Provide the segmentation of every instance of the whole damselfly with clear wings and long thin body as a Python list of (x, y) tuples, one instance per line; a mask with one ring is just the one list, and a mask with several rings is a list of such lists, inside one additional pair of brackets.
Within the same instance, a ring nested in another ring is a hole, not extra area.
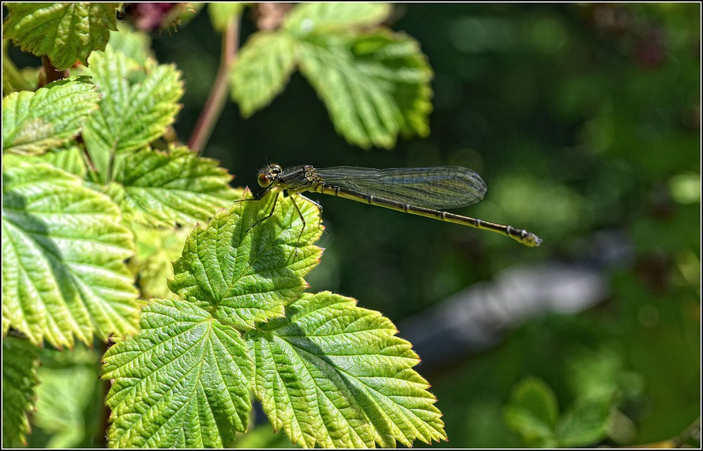
[[(269, 191), (277, 191), (276, 199), (280, 191), (297, 194), (313, 191), (476, 229), (496, 231), (525, 246), (539, 246), (542, 242), (535, 234), (524, 229), (443, 211), (445, 208), (472, 205), (484, 198), (486, 184), (479, 174), (465, 167), (372, 169), (336, 166), (316, 169), (306, 165), (283, 170), (279, 165), (269, 165), (259, 171), (257, 182), (265, 188), (257, 198), (262, 198)], [(275, 208), (276, 201), (273, 206)], [(269, 216), (256, 224), (271, 215), (273, 209)]]

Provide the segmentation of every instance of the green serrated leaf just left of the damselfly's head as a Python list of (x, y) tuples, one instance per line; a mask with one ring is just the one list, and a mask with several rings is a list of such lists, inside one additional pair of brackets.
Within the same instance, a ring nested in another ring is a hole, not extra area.
[[(145, 148), (124, 155), (115, 164), (110, 193), (127, 217), (148, 225), (207, 221), (241, 194), (231, 189), (232, 176), (216, 160), (199, 157), (185, 147), (168, 152)], [(123, 192), (122, 192), (123, 191)]]

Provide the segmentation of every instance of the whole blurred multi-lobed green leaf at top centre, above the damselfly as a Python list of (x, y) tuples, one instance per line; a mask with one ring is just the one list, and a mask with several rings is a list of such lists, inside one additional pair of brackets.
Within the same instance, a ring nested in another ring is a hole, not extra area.
[(354, 29), (378, 24), (388, 11), (384, 4), (302, 4), (282, 30), (254, 34), (230, 78), (243, 115), (269, 104), (298, 66), (352, 144), (391, 148), (398, 134), (427, 136), (432, 69), (418, 42)]

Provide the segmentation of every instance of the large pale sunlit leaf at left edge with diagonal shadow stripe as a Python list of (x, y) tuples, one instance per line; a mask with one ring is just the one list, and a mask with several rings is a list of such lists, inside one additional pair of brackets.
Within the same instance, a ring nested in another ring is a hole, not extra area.
[[(10, 163), (11, 162), (11, 163)], [(110, 198), (46, 164), (4, 161), (3, 329), (34, 344), (136, 331), (138, 302), (124, 259), (131, 234)]]

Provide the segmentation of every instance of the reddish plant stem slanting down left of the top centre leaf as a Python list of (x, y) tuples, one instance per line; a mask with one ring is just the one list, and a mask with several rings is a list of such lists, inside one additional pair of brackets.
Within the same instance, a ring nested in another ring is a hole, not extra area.
[(205, 147), (212, 133), (212, 129), (222, 113), (222, 108), (224, 107), (227, 96), (229, 68), (237, 57), (238, 48), (239, 16), (229, 23), (227, 29), (222, 34), (222, 57), (220, 67), (217, 71), (217, 78), (214, 84), (212, 84), (210, 95), (205, 103), (205, 108), (202, 109), (202, 113), (200, 113), (200, 117), (198, 118), (198, 123), (195, 125), (195, 129), (193, 129), (193, 134), (191, 134), (191, 140), (188, 141), (188, 147), (191, 148), (191, 151), (198, 153), (202, 151), (202, 148)]

